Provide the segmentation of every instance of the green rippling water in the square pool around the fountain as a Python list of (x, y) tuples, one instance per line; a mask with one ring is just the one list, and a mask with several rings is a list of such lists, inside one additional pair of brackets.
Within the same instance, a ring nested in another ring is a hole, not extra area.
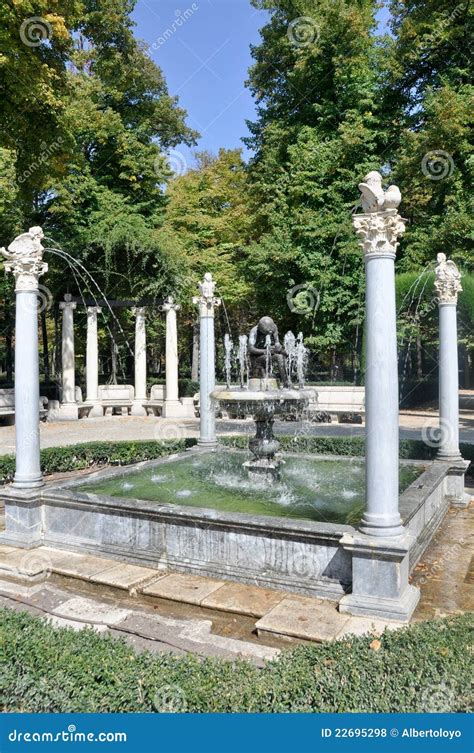
[[(79, 486), (97, 496), (357, 525), (364, 510), (365, 473), (360, 459), (285, 456), (279, 481), (250, 479), (245, 453), (220, 451), (170, 458), (155, 468)], [(423, 472), (400, 466), (400, 492)]]

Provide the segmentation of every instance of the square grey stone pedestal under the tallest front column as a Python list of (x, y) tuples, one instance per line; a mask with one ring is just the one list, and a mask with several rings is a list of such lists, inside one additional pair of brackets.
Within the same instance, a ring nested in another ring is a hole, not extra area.
[(407, 622), (420, 592), (409, 585), (408, 533), (392, 538), (344, 534), (343, 549), (352, 555), (352, 593), (343, 596), (339, 611)]

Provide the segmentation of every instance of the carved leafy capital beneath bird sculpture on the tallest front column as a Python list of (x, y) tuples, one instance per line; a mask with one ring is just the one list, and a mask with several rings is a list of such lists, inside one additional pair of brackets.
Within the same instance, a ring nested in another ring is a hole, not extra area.
[(405, 232), (405, 223), (395, 209), (355, 214), (352, 223), (366, 257), (395, 259), (397, 238)]

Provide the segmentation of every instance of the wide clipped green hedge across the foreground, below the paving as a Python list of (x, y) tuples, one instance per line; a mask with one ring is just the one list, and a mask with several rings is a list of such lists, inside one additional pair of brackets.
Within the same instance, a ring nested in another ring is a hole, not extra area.
[[(472, 616), (245, 661), (137, 653), (124, 640), (0, 610), (6, 712), (467, 711)], [(371, 648), (372, 644), (372, 648)], [(377, 650), (378, 649), (378, 650)]]

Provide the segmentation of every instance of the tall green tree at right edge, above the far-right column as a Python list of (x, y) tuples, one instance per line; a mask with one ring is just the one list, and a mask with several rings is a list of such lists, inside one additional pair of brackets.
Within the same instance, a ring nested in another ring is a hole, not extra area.
[(390, 10), (385, 130), (409, 219), (400, 268), (434, 264), (443, 251), (472, 269), (472, 5), (393, 0)]

